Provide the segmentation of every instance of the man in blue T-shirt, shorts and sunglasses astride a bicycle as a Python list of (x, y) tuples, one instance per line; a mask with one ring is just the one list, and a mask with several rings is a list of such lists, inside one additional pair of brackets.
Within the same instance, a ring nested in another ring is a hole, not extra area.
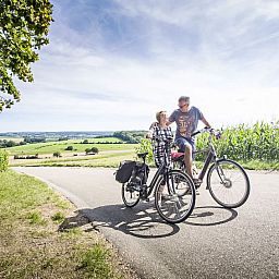
[[(168, 125), (177, 123), (175, 144), (180, 150), (185, 153), (184, 161), (187, 174), (193, 179), (193, 151), (195, 150), (195, 141), (191, 136), (195, 132), (201, 120), (206, 126), (210, 124), (205, 119), (199, 109), (190, 107), (190, 97), (181, 96), (179, 98), (179, 109), (174, 110), (169, 117)], [(198, 181), (194, 182), (198, 183)]]

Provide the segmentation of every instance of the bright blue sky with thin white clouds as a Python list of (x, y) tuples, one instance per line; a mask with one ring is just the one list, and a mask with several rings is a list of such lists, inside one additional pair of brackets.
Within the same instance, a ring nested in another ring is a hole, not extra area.
[(0, 132), (147, 129), (181, 95), (213, 126), (279, 120), (278, 0), (52, 0)]

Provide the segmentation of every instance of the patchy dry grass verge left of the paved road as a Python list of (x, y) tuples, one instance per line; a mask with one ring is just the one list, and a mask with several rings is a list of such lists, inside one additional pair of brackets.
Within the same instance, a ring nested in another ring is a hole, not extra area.
[(0, 278), (131, 278), (86, 218), (58, 230), (74, 210), (43, 182), (0, 172)]

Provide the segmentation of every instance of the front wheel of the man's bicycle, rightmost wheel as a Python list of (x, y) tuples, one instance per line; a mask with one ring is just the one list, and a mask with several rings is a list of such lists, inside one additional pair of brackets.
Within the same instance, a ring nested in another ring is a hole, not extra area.
[(221, 159), (207, 174), (207, 186), (213, 198), (226, 208), (242, 206), (250, 195), (250, 180), (245, 170), (235, 161)]

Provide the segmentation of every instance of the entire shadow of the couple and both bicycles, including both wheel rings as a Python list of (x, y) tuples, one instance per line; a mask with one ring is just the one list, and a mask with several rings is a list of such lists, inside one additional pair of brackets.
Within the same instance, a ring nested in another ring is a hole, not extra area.
[[(236, 216), (235, 210), (223, 207), (196, 207), (184, 223), (190, 226), (218, 226), (232, 221)], [(59, 230), (83, 227), (89, 222), (92, 227), (86, 231), (112, 228), (142, 239), (167, 238), (180, 231), (179, 226), (163, 222), (154, 206), (148, 203), (142, 203), (135, 208), (126, 208), (121, 204), (78, 209), (75, 216), (66, 218), (60, 225)]]

